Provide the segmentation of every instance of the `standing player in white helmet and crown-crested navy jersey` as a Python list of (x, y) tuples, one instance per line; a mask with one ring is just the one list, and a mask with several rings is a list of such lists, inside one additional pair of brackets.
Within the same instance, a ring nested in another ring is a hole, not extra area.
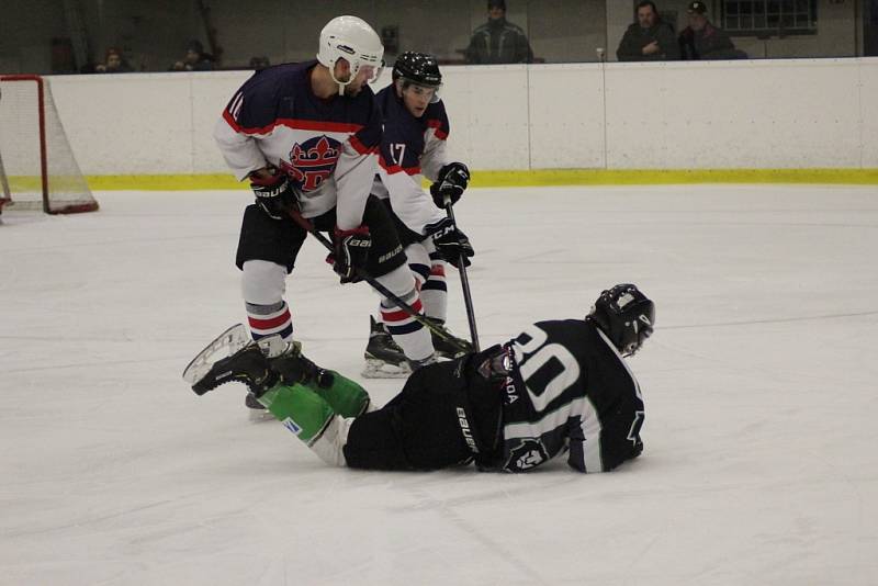
[[(384, 47), (364, 21), (333, 19), (320, 32), (317, 59), (257, 72), (233, 95), (214, 137), (256, 203), (244, 213), (236, 264), (254, 339), (291, 340), (285, 279), (307, 233), (301, 213), (333, 235), (331, 261), (341, 282), (364, 269), (384, 288), (420, 308), (393, 222), (370, 196), (378, 172), (381, 115), (369, 83), (378, 79)], [(381, 301), (394, 340), (408, 360), (432, 360), (429, 333), (393, 303)], [(248, 405), (260, 405), (251, 399)]]

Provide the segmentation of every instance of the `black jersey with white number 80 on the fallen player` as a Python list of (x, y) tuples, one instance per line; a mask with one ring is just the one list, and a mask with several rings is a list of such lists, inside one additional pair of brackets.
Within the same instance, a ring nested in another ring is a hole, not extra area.
[(569, 451), (574, 469), (605, 472), (640, 453), (640, 386), (594, 324), (540, 322), (508, 347), (516, 363), (503, 406), (503, 470), (522, 472)]

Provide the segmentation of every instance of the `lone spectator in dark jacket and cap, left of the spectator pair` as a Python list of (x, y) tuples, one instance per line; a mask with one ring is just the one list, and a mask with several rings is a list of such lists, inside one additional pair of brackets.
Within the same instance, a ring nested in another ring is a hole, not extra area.
[(487, 22), (475, 31), (466, 47), (466, 63), (496, 65), (505, 63), (532, 63), (525, 31), (506, 20), (506, 1), (488, 0)]

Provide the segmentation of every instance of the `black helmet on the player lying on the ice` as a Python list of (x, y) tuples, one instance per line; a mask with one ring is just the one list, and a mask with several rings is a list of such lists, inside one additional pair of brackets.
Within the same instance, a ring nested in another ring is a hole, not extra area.
[(652, 335), (655, 304), (630, 283), (600, 293), (586, 316), (623, 356), (631, 356)]

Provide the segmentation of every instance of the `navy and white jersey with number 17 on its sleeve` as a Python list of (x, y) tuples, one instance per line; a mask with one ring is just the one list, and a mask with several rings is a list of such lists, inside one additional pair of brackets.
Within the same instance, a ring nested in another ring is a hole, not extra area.
[(446, 139), (450, 132), (444, 104), (431, 103), (420, 117), (406, 109), (395, 84), (378, 92), (384, 123), (379, 176), (372, 192), (390, 198), (396, 216), (413, 232), (426, 234), (444, 214), (420, 187), (421, 178), (435, 181), (448, 164)]

